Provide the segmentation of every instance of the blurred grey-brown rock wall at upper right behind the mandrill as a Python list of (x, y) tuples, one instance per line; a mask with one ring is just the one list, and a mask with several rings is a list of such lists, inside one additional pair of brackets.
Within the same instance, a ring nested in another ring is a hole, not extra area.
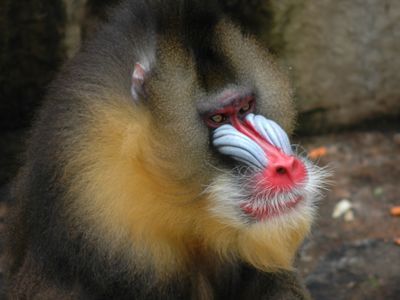
[[(308, 128), (400, 115), (400, 1), (271, 0), (266, 43), (291, 68)], [(272, 40), (271, 40), (272, 39)]]

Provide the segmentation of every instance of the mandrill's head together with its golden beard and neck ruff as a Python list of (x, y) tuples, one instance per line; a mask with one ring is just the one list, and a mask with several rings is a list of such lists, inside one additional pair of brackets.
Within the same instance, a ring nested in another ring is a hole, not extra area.
[(164, 271), (199, 257), (291, 268), (325, 175), (290, 144), (288, 80), (225, 19), (198, 36), (174, 26), (132, 54), (120, 97), (91, 108), (98, 146), (87, 156), (97, 167), (74, 181), (89, 199), (81, 217), (92, 216), (102, 238), (120, 237), (126, 253), (141, 245), (141, 259)]

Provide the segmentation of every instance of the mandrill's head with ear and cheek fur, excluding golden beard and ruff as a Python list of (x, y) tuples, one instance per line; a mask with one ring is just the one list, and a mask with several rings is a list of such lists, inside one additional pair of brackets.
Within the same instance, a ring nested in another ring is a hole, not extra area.
[(287, 78), (236, 27), (217, 28), (209, 57), (174, 40), (160, 43), (154, 66), (135, 64), (131, 91), (153, 117), (153, 158), (169, 179), (210, 194), (224, 222), (311, 220), (325, 176), (293, 152)]

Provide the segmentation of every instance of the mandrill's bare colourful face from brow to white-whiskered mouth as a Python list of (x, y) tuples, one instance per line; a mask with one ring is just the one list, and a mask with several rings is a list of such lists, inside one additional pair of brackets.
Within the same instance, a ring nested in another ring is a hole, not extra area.
[(213, 212), (237, 223), (311, 219), (321, 171), (294, 153), (279, 124), (257, 113), (254, 93), (231, 89), (217, 103), (204, 122), (213, 148), (233, 167), (210, 185)]

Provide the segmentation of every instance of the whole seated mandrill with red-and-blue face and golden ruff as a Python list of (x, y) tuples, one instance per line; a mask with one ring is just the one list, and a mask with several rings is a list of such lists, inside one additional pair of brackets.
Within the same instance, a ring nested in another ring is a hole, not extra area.
[(14, 181), (9, 299), (308, 299), (325, 173), (286, 77), (212, 1), (125, 1), (50, 86)]

